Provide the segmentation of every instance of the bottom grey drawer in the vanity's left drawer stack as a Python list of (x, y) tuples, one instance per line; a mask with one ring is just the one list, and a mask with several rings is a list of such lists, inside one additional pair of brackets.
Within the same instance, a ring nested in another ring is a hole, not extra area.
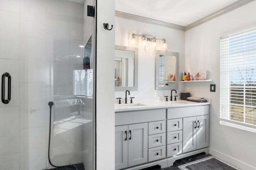
[(166, 157), (166, 146), (148, 149), (148, 162)]

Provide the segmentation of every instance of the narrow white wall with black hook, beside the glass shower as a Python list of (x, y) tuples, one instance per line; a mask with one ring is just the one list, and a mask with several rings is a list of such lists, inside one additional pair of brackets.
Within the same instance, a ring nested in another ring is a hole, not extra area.
[[(97, 0), (96, 169), (115, 169), (114, 37), (115, 1)], [(114, 25), (105, 30), (103, 23)]]

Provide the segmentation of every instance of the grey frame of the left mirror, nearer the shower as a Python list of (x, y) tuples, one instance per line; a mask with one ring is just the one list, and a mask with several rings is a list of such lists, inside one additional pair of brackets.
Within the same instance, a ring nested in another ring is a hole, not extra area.
[(134, 86), (115, 87), (115, 92), (126, 91), (126, 90), (137, 91), (138, 90), (138, 49), (134, 47), (116, 45), (115, 50), (134, 51)]

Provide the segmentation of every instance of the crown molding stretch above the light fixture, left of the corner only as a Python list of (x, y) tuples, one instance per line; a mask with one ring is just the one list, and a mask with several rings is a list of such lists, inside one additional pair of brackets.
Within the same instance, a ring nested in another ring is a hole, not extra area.
[(140, 21), (140, 22), (144, 22), (144, 23), (150, 23), (150, 24), (154, 24), (154, 25), (160, 25), (163, 27), (168, 27), (168, 28), (173, 28), (173, 29), (178, 29), (181, 31), (185, 31), (185, 27), (182, 25), (177, 25), (174, 23), (168, 23), (168, 22), (164, 22), (164, 21), (159, 21), (159, 20), (154, 20), (151, 18), (146, 18), (146, 17), (142, 17), (142, 16), (137, 16), (134, 14), (128, 14), (125, 12), (120, 12), (120, 11), (116, 11), (116, 17), (120, 17), (120, 18), (125, 18), (128, 20), (134, 20), (134, 21)]

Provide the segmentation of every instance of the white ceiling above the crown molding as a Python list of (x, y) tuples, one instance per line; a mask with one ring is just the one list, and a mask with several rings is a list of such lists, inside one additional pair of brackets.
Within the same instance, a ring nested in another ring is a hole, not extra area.
[(238, 0), (116, 0), (116, 11), (187, 26)]

